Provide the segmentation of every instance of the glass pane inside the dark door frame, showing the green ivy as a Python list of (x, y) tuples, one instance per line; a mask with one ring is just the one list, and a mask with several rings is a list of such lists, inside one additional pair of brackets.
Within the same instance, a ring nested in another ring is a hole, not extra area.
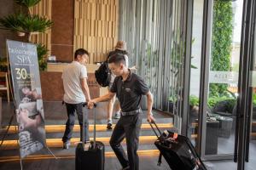
[(232, 154), (235, 144), (236, 97), (241, 13), (239, 1), (214, 1), (206, 155)]

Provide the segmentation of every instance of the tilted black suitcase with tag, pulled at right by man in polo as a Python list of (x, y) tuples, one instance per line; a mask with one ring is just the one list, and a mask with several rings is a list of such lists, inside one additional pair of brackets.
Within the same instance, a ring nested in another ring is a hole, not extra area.
[[(154, 130), (152, 123), (149, 124)], [(160, 133), (158, 136), (154, 130), (158, 138), (154, 144), (160, 150), (159, 166), (161, 156), (164, 156), (172, 170), (207, 170), (187, 137), (167, 130), (161, 133), (156, 123), (153, 124)]]

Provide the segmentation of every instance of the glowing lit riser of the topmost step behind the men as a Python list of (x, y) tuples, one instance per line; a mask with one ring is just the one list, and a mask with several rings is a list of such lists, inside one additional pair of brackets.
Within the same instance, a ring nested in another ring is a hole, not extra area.
[[(160, 128), (171, 128), (173, 127), (172, 123), (158, 123), (158, 127)], [(113, 127), (115, 124), (113, 124)], [(45, 130), (46, 133), (64, 133), (65, 131), (65, 125), (46, 125)], [(96, 131), (97, 132), (102, 132), (107, 130), (107, 125), (106, 124), (96, 124)], [(94, 125), (89, 125), (89, 131), (92, 132), (94, 129)], [(151, 129), (149, 124), (143, 124), (142, 125), (142, 130), (143, 129)], [(2, 130), (0, 130), (0, 134), (6, 132), (7, 127), (3, 127)], [(17, 126), (10, 126), (8, 133), (17, 133), (18, 132), (18, 127)], [(73, 127), (73, 132), (80, 132), (80, 126), (79, 125), (74, 125)]]

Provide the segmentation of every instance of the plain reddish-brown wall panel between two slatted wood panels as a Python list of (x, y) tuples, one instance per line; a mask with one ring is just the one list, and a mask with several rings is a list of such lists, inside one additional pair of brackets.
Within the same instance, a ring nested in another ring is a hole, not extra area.
[(73, 61), (74, 0), (52, 1), (51, 54), (61, 61)]

